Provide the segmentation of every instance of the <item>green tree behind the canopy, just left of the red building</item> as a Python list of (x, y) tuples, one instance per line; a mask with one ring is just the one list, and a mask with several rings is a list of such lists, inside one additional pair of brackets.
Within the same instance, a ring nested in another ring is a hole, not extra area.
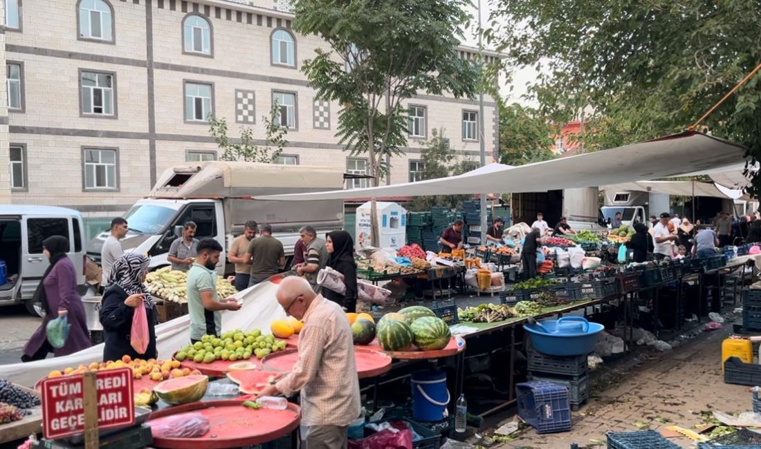
[(517, 103), (499, 108), (499, 162), (520, 166), (555, 158), (551, 147), (556, 128), (536, 109)]

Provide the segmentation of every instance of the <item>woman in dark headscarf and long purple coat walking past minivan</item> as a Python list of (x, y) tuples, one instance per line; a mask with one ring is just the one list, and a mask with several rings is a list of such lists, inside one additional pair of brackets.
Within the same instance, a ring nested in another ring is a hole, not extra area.
[[(22, 362), (45, 359), (48, 353), (53, 353), (56, 357), (68, 356), (91, 346), (84, 305), (77, 292), (77, 271), (72, 259), (66, 256), (68, 250), (68, 239), (63, 236), (51, 236), (43, 240), (43, 253), (50, 264), (32, 301), (42, 305), (45, 318), (24, 346)], [(47, 324), (64, 316), (69, 325), (68, 338), (62, 347), (53, 348), (47, 340)]]

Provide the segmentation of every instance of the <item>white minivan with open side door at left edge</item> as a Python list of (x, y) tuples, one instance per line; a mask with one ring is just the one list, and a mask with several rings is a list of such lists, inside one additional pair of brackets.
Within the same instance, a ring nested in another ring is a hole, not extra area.
[[(34, 291), (48, 267), (43, 240), (49, 236), (68, 239), (68, 257), (77, 269), (79, 294), (87, 292), (84, 281), (84, 226), (77, 210), (64, 207), (0, 204), (0, 305), (21, 304), (32, 315)], [(5, 265), (3, 276), (2, 265)]]

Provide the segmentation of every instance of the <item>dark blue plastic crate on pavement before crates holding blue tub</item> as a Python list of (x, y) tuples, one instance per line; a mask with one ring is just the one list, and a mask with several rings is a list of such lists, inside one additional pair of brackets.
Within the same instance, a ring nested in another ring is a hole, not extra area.
[(571, 430), (571, 404), (568, 390), (549, 382), (524, 382), (515, 385), (518, 416), (537, 433)]

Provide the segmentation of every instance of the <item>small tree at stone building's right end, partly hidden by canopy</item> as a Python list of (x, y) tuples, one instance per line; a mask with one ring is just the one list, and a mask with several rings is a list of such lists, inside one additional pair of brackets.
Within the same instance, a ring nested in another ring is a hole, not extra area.
[[(420, 159), (423, 162), (422, 179), (446, 178), (447, 176), (462, 175), (478, 168), (473, 160), (457, 160), (457, 154), (450, 147), (449, 139), (444, 137), (444, 128), (432, 129), (431, 138), (425, 141)], [(409, 210), (429, 210), (433, 206), (460, 207), (467, 195), (438, 195), (414, 197), (409, 202)]]

